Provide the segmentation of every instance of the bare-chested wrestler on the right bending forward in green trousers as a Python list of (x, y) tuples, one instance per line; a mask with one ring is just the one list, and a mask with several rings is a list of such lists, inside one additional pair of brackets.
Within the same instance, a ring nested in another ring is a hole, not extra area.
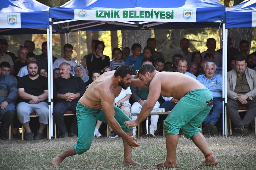
[(137, 120), (125, 122), (127, 128), (142, 122), (150, 114), (160, 95), (179, 100), (163, 124), (167, 158), (164, 163), (156, 164), (157, 169), (177, 166), (176, 149), (180, 128), (186, 138), (192, 139), (204, 154), (205, 161), (200, 166), (217, 165), (217, 159), (212, 155), (198, 128), (213, 106), (211, 92), (188, 75), (178, 72), (158, 72), (150, 64), (141, 66), (138, 77), (139, 79), (131, 80), (131, 85), (148, 87), (150, 91)]

